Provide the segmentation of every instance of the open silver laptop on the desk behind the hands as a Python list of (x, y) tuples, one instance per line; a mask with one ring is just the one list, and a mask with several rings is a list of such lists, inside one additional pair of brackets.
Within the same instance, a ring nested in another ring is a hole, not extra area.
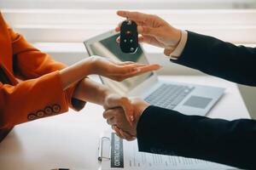
[[(116, 42), (119, 32), (108, 31), (84, 41), (88, 54), (99, 55), (114, 61), (134, 61), (148, 64), (143, 47), (139, 45), (135, 54), (125, 54)], [(224, 88), (202, 86), (190, 83), (160, 81), (154, 71), (137, 77), (115, 82), (100, 77), (102, 83), (118, 94), (140, 97), (151, 105), (179, 111), (185, 115), (205, 116), (224, 94)]]

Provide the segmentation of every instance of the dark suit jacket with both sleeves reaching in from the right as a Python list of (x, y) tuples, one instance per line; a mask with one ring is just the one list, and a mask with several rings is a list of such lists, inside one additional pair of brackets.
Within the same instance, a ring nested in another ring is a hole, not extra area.
[[(232, 82), (256, 85), (256, 48), (189, 32), (183, 54), (174, 62)], [(137, 124), (137, 140), (140, 151), (256, 169), (254, 120), (185, 116), (149, 106)]]

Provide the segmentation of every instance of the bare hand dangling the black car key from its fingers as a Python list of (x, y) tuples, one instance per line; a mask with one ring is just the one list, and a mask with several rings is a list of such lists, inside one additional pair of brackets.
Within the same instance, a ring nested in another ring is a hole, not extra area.
[[(132, 20), (137, 23), (138, 42), (145, 42), (150, 45), (165, 48), (165, 54), (170, 56), (181, 39), (181, 30), (169, 25), (166, 20), (153, 14), (139, 12), (117, 11), (120, 17)], [(121, 31), (121, 24), (115, 28)], [(120, 37), (117, 38), (120, 42)]]

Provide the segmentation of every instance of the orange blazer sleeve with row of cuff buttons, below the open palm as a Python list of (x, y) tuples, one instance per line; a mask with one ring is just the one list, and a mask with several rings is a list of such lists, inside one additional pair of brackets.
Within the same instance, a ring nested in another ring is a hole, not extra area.
[(0, 82), (0, 129), (68, 111), (59, 71), (15, 86)]

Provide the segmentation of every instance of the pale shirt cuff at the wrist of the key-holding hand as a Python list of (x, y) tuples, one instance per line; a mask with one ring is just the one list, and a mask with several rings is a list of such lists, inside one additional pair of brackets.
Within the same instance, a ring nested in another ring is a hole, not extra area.
[(180, 39), (180, 42), (178, 42), (177, 44), (177, 48), (175, 48), (174, 51), (172, 51), (172, 53), (170, 54), (170, 56), (167, 56), (167, 57), (169, 57), (170, 59), (177, 59), (177, 57), (179, 57), (183, 53), (183, 49), (185, 48), (187, 40), (188, 40), (188, 32), (182, 30), (181, 39)]

